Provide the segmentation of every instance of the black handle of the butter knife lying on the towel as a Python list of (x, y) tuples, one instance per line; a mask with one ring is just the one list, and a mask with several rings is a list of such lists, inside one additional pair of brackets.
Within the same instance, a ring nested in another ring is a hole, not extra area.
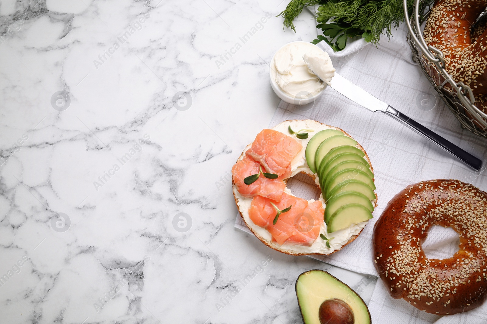
[(409, 118), (408, 116), (404, 115), (403, 113), (397, 111), (393, 107), (387, 107), (385, 111), (386, 114), (393, 117), (394, 119), (399, 120), (403, 124), (406, 124), (409, 128), (416, 131), (417, 133), (425, 136), (433, 143), (437, 144), (439, 147), (445, 149), (446, 151), (450, 152), (451, 154), (455, 155), (458, 159), (462, 160), (466, 163), (469, 167), (480, 170), (482, 167), (482, 160), (473, 156), (472, 154), (468, 153), (467, 151), (461, 149), (460, 147), (456, 146), (449, 140), (439, 136), (435, 132), (429, 130), (428, 128), (424, 127), (417, 121)]

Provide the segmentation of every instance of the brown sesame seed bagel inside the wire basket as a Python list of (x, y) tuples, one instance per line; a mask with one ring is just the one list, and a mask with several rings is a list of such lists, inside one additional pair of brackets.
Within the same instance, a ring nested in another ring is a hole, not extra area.
[[(426, 43), (443, 52), (448, 73), (470, 86), (477, 102), (487, 94), (487, 32), (481, 27), (471, 34), (470, 27), (486, 7), (487, 0), (437, 0), (424, 30)], [(437, 73), (430, 73), (439, 84)]]

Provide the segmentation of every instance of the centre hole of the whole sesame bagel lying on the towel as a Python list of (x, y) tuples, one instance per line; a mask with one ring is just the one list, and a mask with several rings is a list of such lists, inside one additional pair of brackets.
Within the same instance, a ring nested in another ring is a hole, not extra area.
[(460, 236), (451, 227), (433, 225), (421, 248), (429, 259), (448, 259), (458, 252)]

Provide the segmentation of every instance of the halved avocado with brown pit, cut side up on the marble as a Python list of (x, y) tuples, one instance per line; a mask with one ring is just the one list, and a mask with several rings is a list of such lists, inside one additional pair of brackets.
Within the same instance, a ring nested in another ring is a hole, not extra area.
[[(372, 319), (369, 308), (365, 305), (360, 296), (352, 290), (349, 286), (335, 278), (330, 273), (322, 270), (310, 270), (301, 273), (296, 280), (296, 295), (298, 296), (298, 304), (300, 306), (301, 316), (304, 324), (324, 324), (327, 320), (320, 321), (325, 305), (325, 301), (344, 302), (348, 305), (347, 312), (351, 311), (353, 314), (352, 322), (349, 320), (339, 320), (340, 316), (334, 316), (333, 323), (354, 323), (354, 324), (370, 324)], [(343, 303), (341, 303), (343, 304)], [(343, 309), (343, 307), (339, 307)], [(333, 310), (332, 310), (333, 311)]]

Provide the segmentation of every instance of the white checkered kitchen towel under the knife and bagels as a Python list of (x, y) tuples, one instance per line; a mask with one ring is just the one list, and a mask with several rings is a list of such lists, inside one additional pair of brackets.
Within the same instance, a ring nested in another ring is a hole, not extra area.
[[(324, 42), (318, 46), (330, 54), (337, 72), (342, 76), (482, 158), (485, 164), (486, 140), (460, 128), (458, 120), (412, 61), (405, 28), (401, 27), (393, 34), (389, 42), (387, 37), (383, 37), (378, 48), (361, 40), (350, 43), (346, 55), (343, 52), (334, 53)], [(378, 195), (374, 219), (370, 220), (354, 242), (339, 253), (315, 258), (357, 273), (377, 275), (372, 261), (372, 230), (384, 207), (398, 191), (410, 184), (437, 178), (458, 179), (487, 190), (487, 172), (470, 170), (449, 153), (381, 112), (372, 113), (332, 88), (328, 87), (324, 91), (314, 104), (295, 106), (281, 102), (270, 127), (286, 119), (315, 119), (342, 128), (365, 148), (374, 167)], [(293, 187), (293, 191), (299, 195), (300, 189), (296, 188), (294, 190)], [(235, 226), (249, 232), (240, 216)], [(458, 249), (458, 245), (455, 246), (458, 238), (453, 235), (446, 243), (441, 230), (431, 231), (427, 243), (433, 252), (438, 248), (437, 256), (443, 258), (452, 256)], [(467, 313), (439, 317), (420, 312), (402, 299), (394, 300), (380, 279), (375, 286), (369, 309), (375, 324), (487, 322), (487, 304)]]

